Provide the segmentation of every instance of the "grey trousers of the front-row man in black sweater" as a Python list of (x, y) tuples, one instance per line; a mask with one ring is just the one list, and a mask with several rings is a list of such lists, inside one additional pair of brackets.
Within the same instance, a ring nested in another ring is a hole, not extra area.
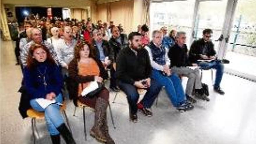
[(185, 76), (188, 77), (189, 80), (187, 82), (186, 86), (186, 94), (192, 95), (193, 89), (201, 89), (202, 88), (202, 82), (201, 82), (201, 76), (200, 71), (198, 68), (192, 70), (188, 67), (172, 67), (172, 72), (178, 74), (179, 76)]

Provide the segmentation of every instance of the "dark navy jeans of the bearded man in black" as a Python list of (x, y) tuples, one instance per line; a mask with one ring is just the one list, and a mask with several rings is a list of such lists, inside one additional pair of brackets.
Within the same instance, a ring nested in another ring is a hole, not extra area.
[[(137, 91), (138, 88), (136, 88), (134, 85), (123, 83), (122, 81), (118, 81), (118, 85), (120, 89), (127, 95), (130, 113), (136, 114), (138, 111), (137, 102), (140, 96)], [(162, 86), (157, 85), (156, 81), (151, 79), (150, 87), (147, 89), (147, 92), (140, 103), (143, 104), (145, 108), (150, 108), (154, 100), (157, 98), (161, 88)]]

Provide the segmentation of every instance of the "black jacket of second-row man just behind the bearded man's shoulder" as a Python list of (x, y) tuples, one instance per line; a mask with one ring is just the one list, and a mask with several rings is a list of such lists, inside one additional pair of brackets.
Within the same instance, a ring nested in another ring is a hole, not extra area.
[(119, 42), (117, 42), (117, 40), (115, 38), (110, 38), (109, 40), (109, 46), (110, 46), (110, 54), (109, 54), (109, 57), (111, 60), (113, 60), (113, 62), (116, 61), (116, 58), (117, 58), (117, 55), (119, 53), (119, 51), (122, 49), (122, 48), (125, 48), (128, 46), (128, 39), (127, 39), (127, 35), (121, 33), (120, 34), (120, 37), (121, 37), (121, 43), (120, 44)]

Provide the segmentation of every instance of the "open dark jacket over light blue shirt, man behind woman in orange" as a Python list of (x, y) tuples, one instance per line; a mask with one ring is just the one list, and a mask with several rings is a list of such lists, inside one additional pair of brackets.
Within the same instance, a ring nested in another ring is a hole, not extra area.
[[(95, 40), (93, 40), (93, 54), (95, 55), (96, 58), (100, 58), (99, 56), (99, 49), (97, 48), (96, 42)], [(110, 53), (110, 47), (109, 47), (109, 43), (106, 40), (102, 40), (102, 48), (103, 48), (103, 52), (105, 56), (109, 56)], [(110, 59), (110, 58), (109, 58)], [(113, 59), (110, 59), (111, 61), (113, 61)]]

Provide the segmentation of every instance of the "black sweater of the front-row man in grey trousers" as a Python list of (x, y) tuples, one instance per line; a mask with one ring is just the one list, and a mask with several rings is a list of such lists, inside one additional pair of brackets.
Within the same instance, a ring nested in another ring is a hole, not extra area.
[(191, 66), (191, 63), (189, 62), (188, 48), (186, 44), (184, 44), (182, 47), (179, 47), (179, 45), (175, 43), (175, 45), (169, 49), (168, 57), (171, 61), (171, 67)]

